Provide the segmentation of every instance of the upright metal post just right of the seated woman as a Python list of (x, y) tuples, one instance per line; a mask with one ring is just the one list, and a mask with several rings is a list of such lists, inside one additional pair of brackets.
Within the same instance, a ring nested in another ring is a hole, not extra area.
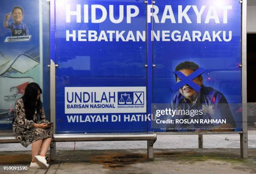
[[(51, 122), (54, 122), (53, 131), (56, 129), (56, 73), (55, 73), (55, 0), (50, 0), (50, 108), (51, 108)], [(56, 159), (55, 142), (50, 145), (50, 159)]]

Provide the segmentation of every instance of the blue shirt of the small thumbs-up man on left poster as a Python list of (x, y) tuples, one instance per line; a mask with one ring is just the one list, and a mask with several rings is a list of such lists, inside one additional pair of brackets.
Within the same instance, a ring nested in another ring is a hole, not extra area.
[(28, 28), (24, 23), (8, 23), (7, 28), (10, 28), (12, 36), (27, 36), (29, 35)]

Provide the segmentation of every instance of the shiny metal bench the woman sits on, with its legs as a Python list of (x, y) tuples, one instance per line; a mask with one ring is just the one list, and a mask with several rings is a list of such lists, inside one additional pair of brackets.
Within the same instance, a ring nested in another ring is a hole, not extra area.
[[(148, 159), (153, 159), (153, 145), (156, 133), (105, 133), (105, 134), (54, 134), (50, 149), (51, 160), (55, 159), (54, 142), (72, 141), (147, 141)], [(1, 135), (0, 143), (19, 143), (12, 135)]]

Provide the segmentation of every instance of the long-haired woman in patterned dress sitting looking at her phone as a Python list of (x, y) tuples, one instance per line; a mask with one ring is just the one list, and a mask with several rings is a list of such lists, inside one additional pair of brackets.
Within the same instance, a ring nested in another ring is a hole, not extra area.
[[(32, 143), (32, 160), (30, 168), (48, 169), (46, 152), (53, 137), (51, 123), (46, 120), (37, 83), (30, 83), (23, 97), (17, 100), (13, 118), (14, 137), (27, 147)], [(40, 155), (38, 155), (39, 150)]]

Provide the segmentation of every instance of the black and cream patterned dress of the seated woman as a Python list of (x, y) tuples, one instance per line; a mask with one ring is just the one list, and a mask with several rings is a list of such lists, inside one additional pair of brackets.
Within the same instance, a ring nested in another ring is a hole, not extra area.
[(13, 136), (25, 147), (34, 141), (53, 137), (52, 127), (41, 129), (33, 126), (34, 123), (49, 123), (43, 108), (41, 108), (40, 113), (34, 114), (34, 120), (27, 120), (23, 100), (18, 99), (15, 104), (13, 119)]

